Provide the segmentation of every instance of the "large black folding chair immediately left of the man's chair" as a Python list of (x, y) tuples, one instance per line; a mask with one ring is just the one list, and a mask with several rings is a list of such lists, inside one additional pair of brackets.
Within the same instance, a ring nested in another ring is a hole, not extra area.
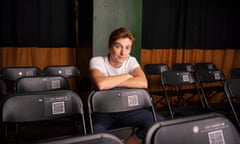
[(2, 143), (86, 134), (82, 100), (71, 90), (5, 97), (1, 103), (1, 126)]

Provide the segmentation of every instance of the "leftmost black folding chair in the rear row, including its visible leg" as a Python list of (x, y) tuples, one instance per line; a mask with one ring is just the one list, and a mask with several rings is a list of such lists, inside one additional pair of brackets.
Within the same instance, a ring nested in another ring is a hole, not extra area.
[(18, 78), (41, 75), (41, 69), (36, 66), (5, 67), (1, 70), (1, 79), (6, 83), (7, 94), (12, 94), (14, 92), (14, 83)]

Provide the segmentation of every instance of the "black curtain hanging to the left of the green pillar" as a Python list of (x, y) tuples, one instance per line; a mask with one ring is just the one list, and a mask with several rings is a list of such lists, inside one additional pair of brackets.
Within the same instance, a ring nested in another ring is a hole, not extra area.
[(0, 47), (75, 47), (74, 0), (1, 0)]

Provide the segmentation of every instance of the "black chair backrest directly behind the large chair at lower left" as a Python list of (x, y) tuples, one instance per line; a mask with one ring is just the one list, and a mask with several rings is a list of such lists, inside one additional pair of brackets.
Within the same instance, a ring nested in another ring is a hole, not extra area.
[(63, 76), (22, 77), (15, 81), (14, 92), (40, 92), (49, 90), (70, 89), (68, 80)]

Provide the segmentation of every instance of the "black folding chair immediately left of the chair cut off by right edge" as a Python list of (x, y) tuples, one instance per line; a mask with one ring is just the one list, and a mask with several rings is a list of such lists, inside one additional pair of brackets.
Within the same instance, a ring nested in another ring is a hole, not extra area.
[[(197, 81), (200, 85), (201, 93), (208, 102), (209, 107), (220, 108), (221, 102), (226, 102), (224, 95), (224, 73), (218, 69), (199, 69), (196, 72)], [(211, 100), (212, 99), (212, 100)]]

